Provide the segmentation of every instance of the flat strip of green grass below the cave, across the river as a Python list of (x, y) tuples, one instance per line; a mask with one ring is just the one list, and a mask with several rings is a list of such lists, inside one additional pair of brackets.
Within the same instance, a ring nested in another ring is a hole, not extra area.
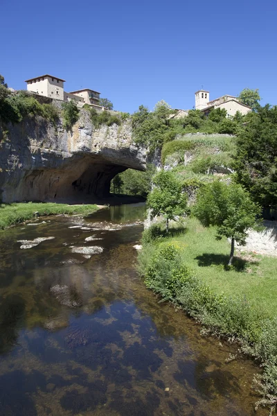
[(97, 205), (67, 205), (54, 202), (19, 202), (0, 205), (0, 229), (10, 227), (25, 220), (39, 216), (57, 214), (91, 214), (97, 211)]

